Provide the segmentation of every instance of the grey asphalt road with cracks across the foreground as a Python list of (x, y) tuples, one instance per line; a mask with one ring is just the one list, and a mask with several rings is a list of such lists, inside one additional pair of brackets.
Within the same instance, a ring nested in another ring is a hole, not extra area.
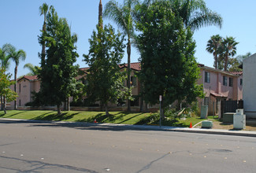
[(0, 120), (0, 172), (255, 172), (256, 138)]

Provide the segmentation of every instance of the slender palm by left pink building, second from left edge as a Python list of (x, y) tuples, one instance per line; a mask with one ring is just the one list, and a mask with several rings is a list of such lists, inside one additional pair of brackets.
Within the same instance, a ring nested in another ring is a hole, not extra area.
[[(14, 68), (14, 91), (17, 91), (17, 72), (18, 72), (18, 66), (20, 64), (20, 61), (24, 61), (26, 59), (26, 53), (24, 50), (16, 50), (16, 48), (11, 45), (6, 45), (6, 52), (8, 54), (8, 57), (12, 59), (15, 62), (15, 68)], [(14, 109), (17, 109), (17, 101), (14, 101)]]

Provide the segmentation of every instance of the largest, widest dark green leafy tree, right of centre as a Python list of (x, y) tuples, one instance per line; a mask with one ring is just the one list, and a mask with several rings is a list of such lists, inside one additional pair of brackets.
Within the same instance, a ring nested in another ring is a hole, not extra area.
[(190, 103), (202, 96), (202, 87), (196, 84), (199, 69), (192, 32), (169, 6), (168, 1), (157, 1), (140, 9), (137, 25), (144, 99), (154, 105), (162, 95), (162, 109), (176, 100)]

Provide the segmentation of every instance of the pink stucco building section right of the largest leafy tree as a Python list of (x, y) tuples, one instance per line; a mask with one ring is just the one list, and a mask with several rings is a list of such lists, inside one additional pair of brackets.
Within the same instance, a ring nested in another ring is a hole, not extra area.
[(198, 67), (198, 84), (202, 84), (205, 93), (205, 98), (198, 99), (198, 105), (208, 105), (210, 115), (221, 116), (221, 100), (243, 99), (243, 72), (224, 72), (203, 64)]

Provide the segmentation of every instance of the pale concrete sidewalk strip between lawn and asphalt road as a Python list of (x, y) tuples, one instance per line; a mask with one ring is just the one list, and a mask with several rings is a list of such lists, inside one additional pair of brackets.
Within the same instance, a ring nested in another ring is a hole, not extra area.
[[(21, 120), (21, 119), (0, 119), (11, 123), (53, 123), (63, 124), (66, 126), (82, 126), (82, 127), (111, 127), (112, 129), (124, 130), (147, 130), (147, 131), (177, 131), (187, 133), (200, 134), (222, 134), (222, 135), (236, 135), (256, 137), (256, 131), (236, 131), (236, 130), (221, 130), (221, 129), (204, 129), (204, 128), (187, 128), (187, 127), (167, 127), (167, 126), (148, 126), (148, 125), (129, 125), (129, 124), (113, 124), (113, 123), (83, 123), (83, 122), (65, 122), (65, 121), (43, 121), (43, 120)], [(0, 122), (1, 123), (1, 122)]]

